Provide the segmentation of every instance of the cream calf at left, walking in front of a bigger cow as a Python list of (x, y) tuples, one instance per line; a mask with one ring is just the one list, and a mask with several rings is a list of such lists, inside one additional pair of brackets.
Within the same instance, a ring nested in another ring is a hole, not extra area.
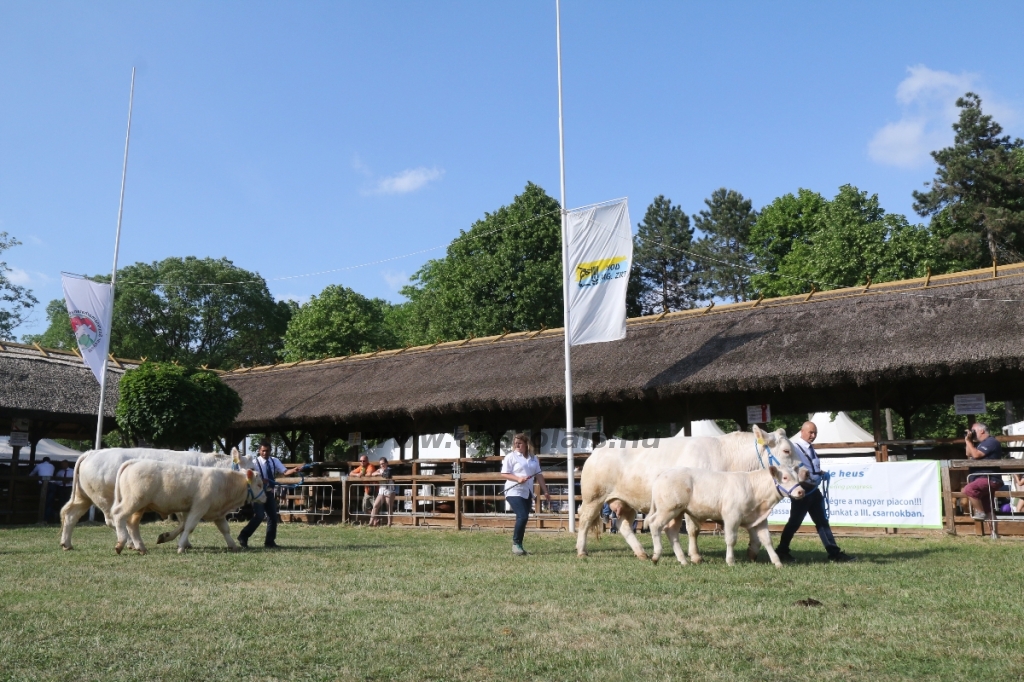
[[(114, 485), (114, 525), (118, 531), (118, 554), (129, 537), (140, 554), (145, 545), (138, 524), (147, 511), (168, 516), (182, 514), (178, 554), (185, 551), (188, 535), (200, 521), (213, 521), (224, 536), (227, 549), (238, 552), (227, 525), (227, 514), (247, 501), (258, 501), (264, 495), (263, 479), (251, 469), (233, 471), (212, 467), (196, 467), (159, 460), (130, 460), (118, 468)], [(164, 542), (167, 534), (161, 536)]]

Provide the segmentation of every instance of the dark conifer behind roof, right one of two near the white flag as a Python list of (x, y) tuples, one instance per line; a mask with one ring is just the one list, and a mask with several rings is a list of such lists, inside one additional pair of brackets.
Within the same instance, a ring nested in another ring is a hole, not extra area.
[(693, 226), (702, 233), (693, 247), (700, 280), (714, 298), (745, 301), (754, 267), (748, 243), (758, 212), (751, 200), (725, 187), (713, 191), (705, 204), (708, 208), (693, 216)]

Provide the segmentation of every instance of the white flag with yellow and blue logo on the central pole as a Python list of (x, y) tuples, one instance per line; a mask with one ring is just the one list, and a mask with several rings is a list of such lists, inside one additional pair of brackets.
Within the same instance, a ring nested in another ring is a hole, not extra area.
[(633, 231), (626, 200), (569, 211), (569, 343), (626, 337), (626, 288), (633, 263)]

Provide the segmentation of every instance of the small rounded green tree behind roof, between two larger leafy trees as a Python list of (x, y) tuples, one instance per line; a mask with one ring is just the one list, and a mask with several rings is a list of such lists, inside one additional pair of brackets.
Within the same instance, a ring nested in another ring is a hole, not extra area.
[(285, 359), (337, 357), (391, 348), (397, 340), (385, 324), (390, 304), (347, 287), (331, 285), (299, 306), (285, 333)]

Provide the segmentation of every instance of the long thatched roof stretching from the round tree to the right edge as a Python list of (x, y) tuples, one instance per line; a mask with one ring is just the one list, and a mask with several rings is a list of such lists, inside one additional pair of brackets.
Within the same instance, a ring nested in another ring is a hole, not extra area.
[[(987, 301), (1014, 299), (1020, 303)], [(909, 408), (953, 392), (1020, 397), (1024, 264), (633, 318), (572, 349), (581, 422), (644, 423)], [(237, 370), (243, 430), (368, 433), (557, 425), (561, 330)], [(1011, 395), (1013, 393), (1013, 395)]]

